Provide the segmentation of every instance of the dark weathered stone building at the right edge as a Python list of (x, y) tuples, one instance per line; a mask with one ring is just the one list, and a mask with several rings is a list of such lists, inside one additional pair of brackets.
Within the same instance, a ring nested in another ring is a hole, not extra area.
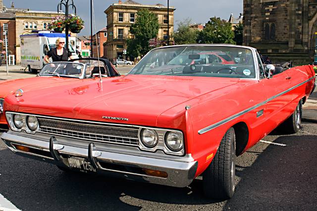
[(244, 0), (243, 43), (273, 62), (311, 63), (317, 0)]

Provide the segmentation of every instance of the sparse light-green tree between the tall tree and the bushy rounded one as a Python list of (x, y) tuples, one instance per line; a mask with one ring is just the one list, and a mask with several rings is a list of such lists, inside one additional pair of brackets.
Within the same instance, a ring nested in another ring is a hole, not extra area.
[(197, 43), (198, 31), (190, 28), (191, 19), (187, 18), (178, 23), (177, 32), (172, 34), (172, 38), (176, 44)]

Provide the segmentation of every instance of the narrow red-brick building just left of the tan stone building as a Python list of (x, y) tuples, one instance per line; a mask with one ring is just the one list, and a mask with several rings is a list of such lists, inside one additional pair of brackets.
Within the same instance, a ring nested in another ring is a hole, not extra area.
[[(107, 42), (107, 28), (104, 28), (97, 32), (95, 35), (93, 35), (93, 57), (97, 58), (98, 53), (99, 57), (104, 57), (105, 50), (104, 47), (106, 47)], [(98, 49), (98, 51), (97, 51)]]

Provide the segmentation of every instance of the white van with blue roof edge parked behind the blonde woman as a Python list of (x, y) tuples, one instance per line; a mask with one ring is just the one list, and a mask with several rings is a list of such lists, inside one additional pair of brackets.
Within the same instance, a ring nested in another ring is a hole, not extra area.
[[(37, 73), (45, 64), (44, 57), (49, 50), (55, 47), (57, 38), (64, 38), (63, 33), (39, 32), (36, 34), (20, 35), (21, 40), (21, 66), (28, 68), (30, 72)], [(73, 43), (73, 44), (72, 44)], [(76, 38), (68, 37), (68, 48), (75, 58), (76, 54)], [(52, 59), (50, 58), (50, 61)]]

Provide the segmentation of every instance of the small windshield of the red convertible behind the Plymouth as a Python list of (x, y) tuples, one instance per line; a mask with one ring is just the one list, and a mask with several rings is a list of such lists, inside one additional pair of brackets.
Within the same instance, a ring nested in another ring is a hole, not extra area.
[(40, 76), (59, 76), (79, 78), (84, 71), (84, 65), (70, 62), (54, 62), (45, 65)]

